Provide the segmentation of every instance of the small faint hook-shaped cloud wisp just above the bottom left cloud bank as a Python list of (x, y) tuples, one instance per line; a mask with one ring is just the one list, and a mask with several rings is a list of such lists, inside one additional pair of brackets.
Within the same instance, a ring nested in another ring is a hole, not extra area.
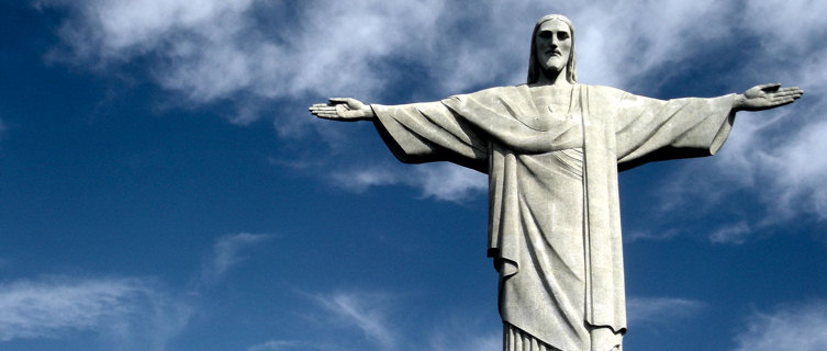
[(238, 251), (245, 247), (272, 238), (267, 234), (239, 233), (221, 237), (213, 246), (213, 252), (201, 273), (201, 283), (214, 284), (243, 258)]

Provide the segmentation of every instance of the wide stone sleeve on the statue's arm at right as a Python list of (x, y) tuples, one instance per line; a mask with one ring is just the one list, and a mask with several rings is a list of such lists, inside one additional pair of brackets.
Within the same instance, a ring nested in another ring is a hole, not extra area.
[(615, 117), (618, 170), (715, 155), (735, 121), (735, 94), (657, 100), (624, 93)]

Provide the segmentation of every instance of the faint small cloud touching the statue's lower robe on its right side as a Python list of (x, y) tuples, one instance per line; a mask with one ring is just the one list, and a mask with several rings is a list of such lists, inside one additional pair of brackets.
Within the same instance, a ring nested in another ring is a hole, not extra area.
[(626, 299), (629, 325), (662, 325), (694, 316), (703, 302), (675, 297), (630, 297)]

